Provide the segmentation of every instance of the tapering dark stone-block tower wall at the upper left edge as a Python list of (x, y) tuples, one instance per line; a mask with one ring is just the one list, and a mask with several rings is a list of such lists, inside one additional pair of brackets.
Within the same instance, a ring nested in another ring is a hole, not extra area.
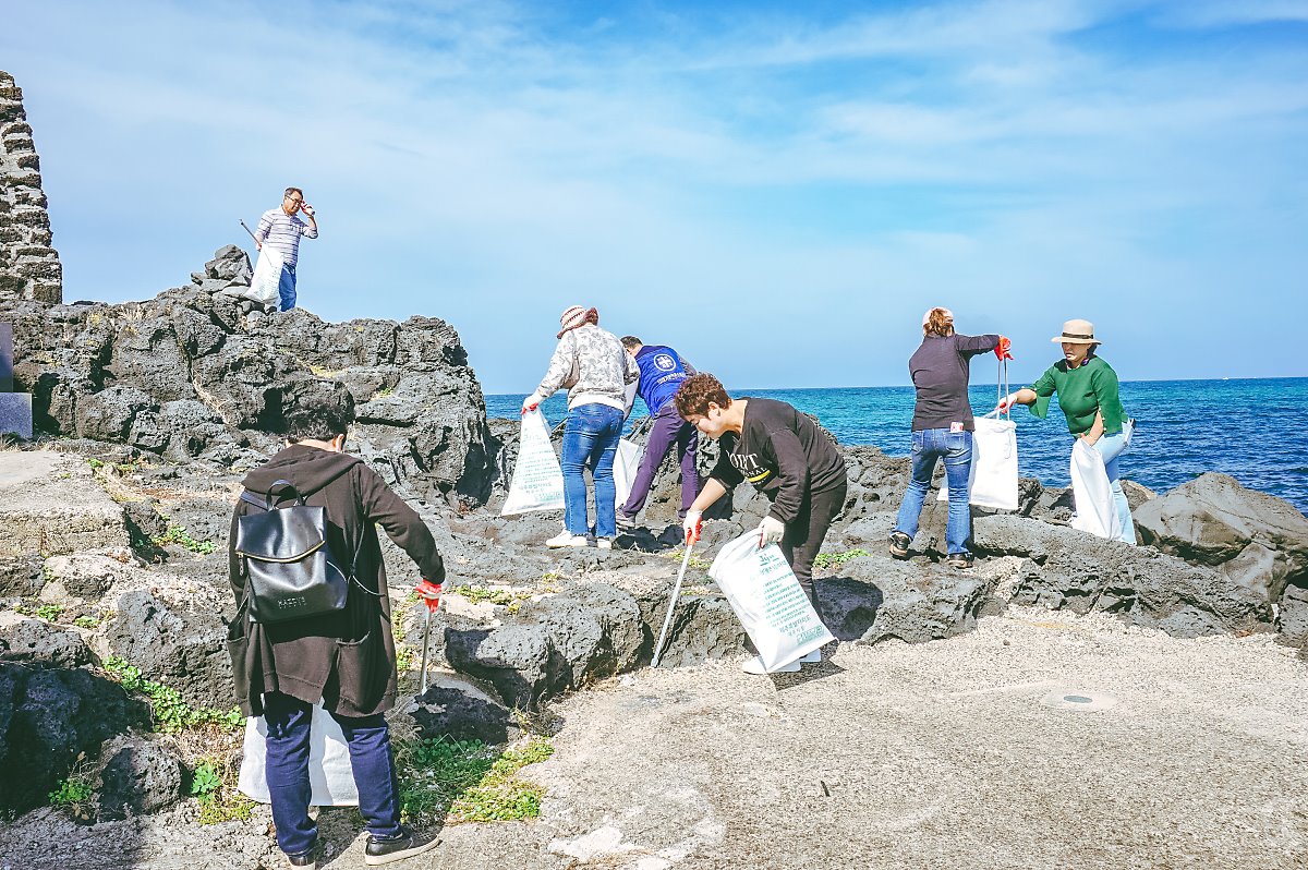
[(63, 301), (39, 170), (22, 90), (0, 71), (0, 298)]

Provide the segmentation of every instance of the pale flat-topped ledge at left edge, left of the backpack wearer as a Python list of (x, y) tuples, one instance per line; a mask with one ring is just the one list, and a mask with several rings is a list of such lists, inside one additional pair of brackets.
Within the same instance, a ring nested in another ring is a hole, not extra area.
[(123, 509), (76, 457), (0, 453), (0, 557), (126, 547)]

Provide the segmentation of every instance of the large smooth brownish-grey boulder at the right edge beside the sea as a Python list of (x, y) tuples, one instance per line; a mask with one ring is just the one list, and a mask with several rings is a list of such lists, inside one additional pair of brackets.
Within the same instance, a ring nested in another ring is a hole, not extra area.
[(1288, 501), (1209, 472), (1141, 506), (1135, 527), (1142, 543), (1211, 565), (1277, 604), (1286, 642), (1308, 641), (1308, 612), (1299, 612), (1308, 595), (1308, 518)]

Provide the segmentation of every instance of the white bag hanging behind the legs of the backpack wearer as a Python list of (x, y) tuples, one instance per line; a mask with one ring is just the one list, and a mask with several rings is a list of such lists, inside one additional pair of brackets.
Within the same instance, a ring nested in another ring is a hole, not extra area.
[[(262, 716), (246, 720), (245, 757), (237, 788), (242, 794), (269, 803), (268, 798), (268, 723)], [(340, 725), (331, 717), (322, 701), (314, 705), (314, 718), (309, 727), (309, 785), (310, 806), (358, 806), (358, 788), (349, 765), (349, 744)]]

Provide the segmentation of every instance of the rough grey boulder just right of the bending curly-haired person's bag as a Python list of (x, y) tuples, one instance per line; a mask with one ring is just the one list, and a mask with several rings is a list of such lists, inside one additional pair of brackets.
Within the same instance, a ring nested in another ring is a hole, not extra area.
[(990, 583), (943, 564), (861, 556), (818, 581), (818, 608), (838, 640), (923, 644), (976, 628)]

